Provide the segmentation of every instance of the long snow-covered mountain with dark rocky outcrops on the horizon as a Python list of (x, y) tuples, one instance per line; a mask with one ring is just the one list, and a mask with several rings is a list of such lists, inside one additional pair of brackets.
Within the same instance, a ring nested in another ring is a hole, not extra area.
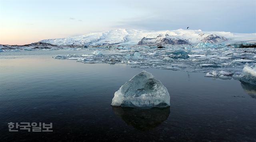
[(52, 45), (143, 45), (143, 44), (196, 44), (256, 41), (256, 33), (230, 33), (223, 31), (115, 29), (89, 33), (77, 37), (45, 39), (40, 42)]

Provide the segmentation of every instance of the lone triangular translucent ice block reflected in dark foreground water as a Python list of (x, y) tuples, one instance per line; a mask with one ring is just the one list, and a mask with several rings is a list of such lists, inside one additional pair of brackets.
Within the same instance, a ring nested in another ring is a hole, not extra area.
[(112, 106), (124, 107), (167, 107), (170, 95), (164, 85), (143, 70), (115, 92)]

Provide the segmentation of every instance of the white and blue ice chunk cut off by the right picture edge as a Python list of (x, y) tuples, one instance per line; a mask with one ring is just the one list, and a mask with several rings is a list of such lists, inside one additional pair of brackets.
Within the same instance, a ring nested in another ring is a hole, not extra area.
[(241, 75), (240, 81), (256, 85), (256, 64), (246, 65)]

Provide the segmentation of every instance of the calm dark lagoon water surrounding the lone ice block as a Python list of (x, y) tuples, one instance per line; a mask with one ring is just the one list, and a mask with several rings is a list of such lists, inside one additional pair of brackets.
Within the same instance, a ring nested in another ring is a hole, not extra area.
[[(0, 54), (0, 141), (256, 141), (252, 86), (146, 69), (168, 89), (170, 108), (111, 107), (114, 92), (142, 69), (51, 58), (84, 53)], [(53, 132), (8, 132), (9, 122), (53, 123)]]

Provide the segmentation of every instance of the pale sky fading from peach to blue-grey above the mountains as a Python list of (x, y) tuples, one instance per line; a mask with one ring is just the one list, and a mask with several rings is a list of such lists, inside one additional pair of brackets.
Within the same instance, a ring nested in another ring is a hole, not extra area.
[(256, 33), (256, 0), (0, 0), (0, 44), (110, 29)]

